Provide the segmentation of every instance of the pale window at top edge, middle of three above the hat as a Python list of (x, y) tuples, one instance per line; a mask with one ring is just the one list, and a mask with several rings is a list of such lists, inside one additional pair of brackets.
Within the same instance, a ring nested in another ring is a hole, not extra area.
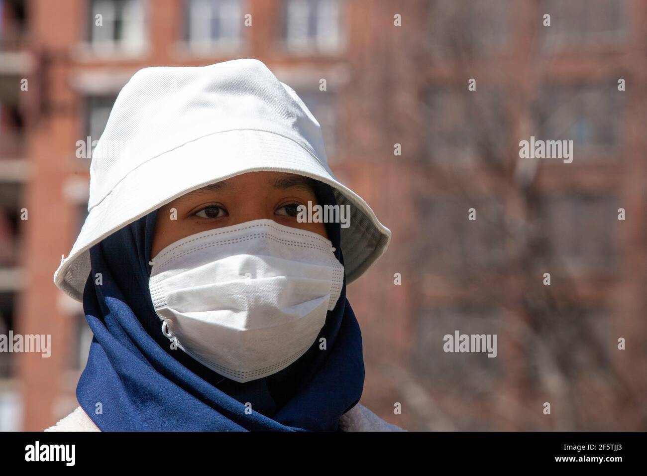
[(193, 51), (237, 49), (243, 32), (241, 0), (188, 0), (184, 40)]

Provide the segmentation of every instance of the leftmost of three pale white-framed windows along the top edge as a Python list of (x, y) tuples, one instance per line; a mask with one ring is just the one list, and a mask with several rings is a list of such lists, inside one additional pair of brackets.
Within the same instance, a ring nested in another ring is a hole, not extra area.
[(144, 49), (142, 0), (91, 0), (89, 43), (95, 52), (138, 53)]

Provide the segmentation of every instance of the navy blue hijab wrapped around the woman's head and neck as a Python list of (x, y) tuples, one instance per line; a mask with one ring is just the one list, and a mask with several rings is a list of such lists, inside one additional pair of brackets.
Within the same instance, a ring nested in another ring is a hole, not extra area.
[[(316, 195), (320, 205), (336, 203), (325, 184), (318, 183)], [(90, 249), (83, 310), (94, 337), (76, 387), (83, 410), (102, 431), (340, 431), (340, 416), (364, 387), (362, 335), (345, 277), (335, 308), (302, 357), (265, 378), (230, 380), (172, 350), (162, 335), (148, 289), (157, 212)], [(340, 223), (325, 225), (344, 264)]]

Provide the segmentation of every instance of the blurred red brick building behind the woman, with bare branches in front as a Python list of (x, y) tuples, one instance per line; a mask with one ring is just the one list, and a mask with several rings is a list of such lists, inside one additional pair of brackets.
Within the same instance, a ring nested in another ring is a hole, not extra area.
[[(141, 67), (245, 57), (294, 87), (333, 172), (393, 231), (348, 291), (364, 405), (406, 429), (644, 429), (647, 2), (0, 0), (0, 12), (0, 333), (51, 334), (53, 348), (0, 354), (0, 430), (43, 429), (78, 405), (91, 333), (52, 282), (87, 213), (77, 141), (100, 137)], [(574, 163), (520, 160), (531, 135), (573, 139)], [(483, 219), (468, 223), (470, 207)], [(498, 332), (498, 358), (444, 354), (455, 329)], [(631, 337), (623, 354), (617, 336)]]

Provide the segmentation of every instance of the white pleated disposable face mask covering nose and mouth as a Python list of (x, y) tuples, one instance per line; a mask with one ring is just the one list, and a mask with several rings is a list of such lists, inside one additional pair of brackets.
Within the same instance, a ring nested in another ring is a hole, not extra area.
[(343, 284), (330, 240), (254, 220), (168, 245), (153, 258), (149, 289), (166, 337), (247, 382), (305, 354)]

